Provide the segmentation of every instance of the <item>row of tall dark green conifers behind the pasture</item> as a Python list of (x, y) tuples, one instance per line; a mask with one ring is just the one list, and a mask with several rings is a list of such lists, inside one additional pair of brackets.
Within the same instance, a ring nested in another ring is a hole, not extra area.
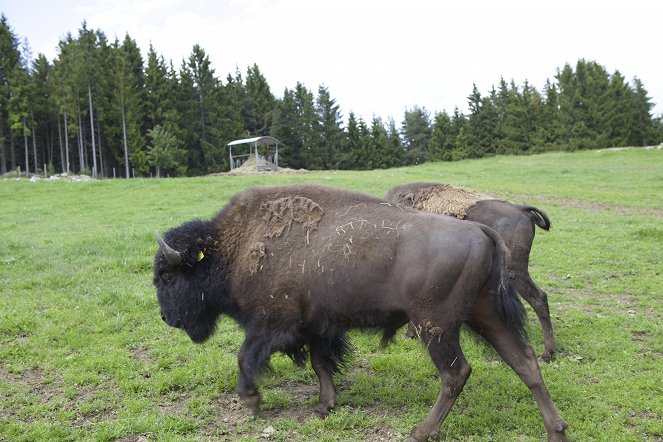
[[(219, 78), (194, 45), (176, 68), (127, 34), (109, 41), (82, 23), (49, 61), (32, 57), (0, 16), (0, 172), (93, 177), (184, 176), (228, 170), (227, 143), (271, 135), (280, 165), (374, 169), (494, 154), (645, 146), (661, 117), (638, 78), (595, 61), (557, 69), (540, 93), (500, 79), (469, 112), (414, 106), (390, 118), (344, 119), (329, 89), (297, 82), (276, 97), (257, 65)], [(44, 170), (44, 168), (46, 170)]]

